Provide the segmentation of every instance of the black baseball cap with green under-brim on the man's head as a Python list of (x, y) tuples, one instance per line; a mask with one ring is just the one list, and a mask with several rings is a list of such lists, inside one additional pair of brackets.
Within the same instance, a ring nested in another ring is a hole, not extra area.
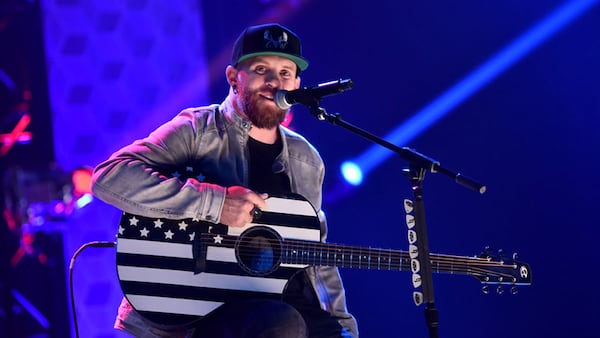
[(277, 55), (296, 63), (300, 70), (308, 67), (308, 61), (302, 57), (300, 38), (290, 29), (276, 23), (250, 26), (237, 38), (233, 45), (231, 64), (259, 55)]

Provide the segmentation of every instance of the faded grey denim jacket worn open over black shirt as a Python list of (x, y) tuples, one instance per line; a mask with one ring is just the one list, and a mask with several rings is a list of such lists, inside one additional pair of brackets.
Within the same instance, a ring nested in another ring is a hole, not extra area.
[[(225, 187), (248, 186), (246, 142), (250, 127), (250, 121), (235, 111), (229, 97), (220, 106), (183, 110), (147, 138), (122, 148), (98, 165), (93, 175), (93, 192), (101, 200), (132, 214), (218, 223)], [(325, 240), (326, 221), (321, 211), (323, 161), (304, 137), (284, 127), (279, 130), (283, 150), (273, 168), (285, 172), (292, 191), (306, 197), (319, 210), (322, 240)], [(175, 173), (182, 168), (197, 168), (200, 172), (196, 179), (184, 181)], [(346, 310), (337, 268), (310, 267), (307, 275), (321, 307), (338, 318), (353, 337), (358, 337), (356, 321)], [(142, 335), (141, 327), (128, 326), (127, 321), (133, 326), (134, 322), (151, 324), (128, 309), (126, 317), (135, 318), (121, 318), (121, 328)], [(152, 329), (155, 333), (160, 331), (159, 327)]]

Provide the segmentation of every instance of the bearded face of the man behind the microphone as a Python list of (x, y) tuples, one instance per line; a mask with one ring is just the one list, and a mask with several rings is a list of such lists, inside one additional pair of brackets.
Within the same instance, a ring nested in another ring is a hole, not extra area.
[(242, 61), (237, 66), (237, 106), (257, 128), (277, 127), (287, 110), (273, 101), (280, 89), (294, 90), (300, 86), (297, 66), (289, 59), (265, 55)]

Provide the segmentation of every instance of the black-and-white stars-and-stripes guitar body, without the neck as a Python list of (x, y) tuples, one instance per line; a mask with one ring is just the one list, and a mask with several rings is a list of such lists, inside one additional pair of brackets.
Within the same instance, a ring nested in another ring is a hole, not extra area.
[(129, 303), (154, 322), (188, 325), (226, 302), (280, 298), (288, 280), (308, 266), (301, 256), (282, 262), (282, 243), (318, 242), (320, 221), (300, 196), (266, 202), (244, 228), (124, 213), (117, 272)]

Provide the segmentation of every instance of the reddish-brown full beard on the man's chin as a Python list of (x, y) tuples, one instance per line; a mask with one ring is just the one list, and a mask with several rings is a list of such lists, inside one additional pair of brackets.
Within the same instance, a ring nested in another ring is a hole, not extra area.
[(285, 119), (287, 110), (267, 104), (256, 92), (244, 93), (244, 112), (252, 125), (257, 128), (272, 129)]

